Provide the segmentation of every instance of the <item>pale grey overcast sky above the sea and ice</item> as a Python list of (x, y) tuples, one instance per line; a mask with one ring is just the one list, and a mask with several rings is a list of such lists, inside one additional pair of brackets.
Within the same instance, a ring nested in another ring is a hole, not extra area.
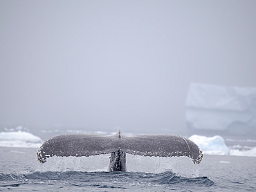
[(191, 82), (256, 86), (256, 1), (0, 1), (0, 125), (174, 133)]

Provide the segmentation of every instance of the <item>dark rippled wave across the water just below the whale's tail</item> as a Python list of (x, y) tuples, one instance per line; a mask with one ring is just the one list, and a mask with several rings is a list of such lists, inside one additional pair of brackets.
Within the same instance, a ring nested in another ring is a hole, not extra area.
[[(111, 181), (109, 180), (111, 177)], [(22, 184), (51, 184), (64, 182), (70, 186), (96, 186), (97, 188), (120, 187), (122, 189), (131, 189), (132, 186), (158, 186), (158, 185), (192, 185), (195, 186), (212, 186), (214, 182), (208, 177), (182, 177), (167, 171), (164, 173), (141, 173), (141, 172), (80, 172), (80, 171), (65, 171), (65, 172), (39, 172), (25, 174), (3, 174), (0, 173), (0, 186), (19, 186)]]

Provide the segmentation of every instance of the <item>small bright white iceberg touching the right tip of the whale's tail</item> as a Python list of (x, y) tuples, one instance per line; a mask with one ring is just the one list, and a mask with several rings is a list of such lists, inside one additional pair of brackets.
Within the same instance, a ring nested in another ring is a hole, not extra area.
[(219, 135), (214, 137), (205, 137), (201, 135), (192, 135), (190, 138), (192, 142), (197, 144), (203, 154), (208, 155), (229, 155), (230, 149), (226, 146), (223, 138)]

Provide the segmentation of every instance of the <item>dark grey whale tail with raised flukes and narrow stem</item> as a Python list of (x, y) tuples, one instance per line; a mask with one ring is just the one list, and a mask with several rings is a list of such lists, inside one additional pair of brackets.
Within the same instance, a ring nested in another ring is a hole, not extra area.
[(126, 171), (126, 153), (155, 157), (192, 158), (199, 164), (203, 153), (191, 140), (178, 135), (87, 135), (67, 134), (53, 137), (42, 144), (37, 152), (39, 162), (58, 156), (90, 156), (111, 153), (109, 171)]

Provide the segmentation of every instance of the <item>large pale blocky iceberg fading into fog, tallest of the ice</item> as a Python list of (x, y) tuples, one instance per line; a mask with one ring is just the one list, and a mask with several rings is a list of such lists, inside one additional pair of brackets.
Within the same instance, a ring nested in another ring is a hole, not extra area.
[(231, 133), (256, 128), (256, 88), (191, 84), (185, 107), (188, 128)]

